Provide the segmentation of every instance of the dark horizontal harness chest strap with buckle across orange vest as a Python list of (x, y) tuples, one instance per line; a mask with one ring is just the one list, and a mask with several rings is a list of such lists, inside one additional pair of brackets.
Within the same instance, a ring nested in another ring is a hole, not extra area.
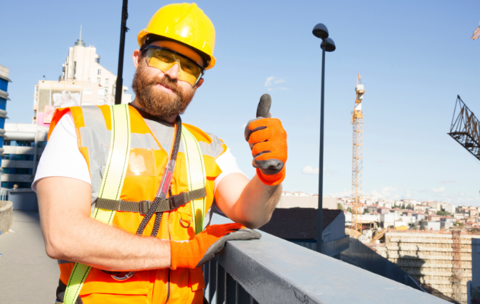
[[(159, 201), (159, 205), (155, 209), (155, 213), (175, 210), (178, 207), (183, 206), (189, 201), (201, 199), (207, 195), (206, 188), (196, 189), (193, 191), (182, 192), (178, 195), (169, 196), (166, 199)], [(140, 214), (146, 214), (149, 211), (153, 201), (122, 201), (114, 199), (98, 198), (97, 208), (113, 210), (113, 211), (127, 211), (127, 212), (139, 212)]]

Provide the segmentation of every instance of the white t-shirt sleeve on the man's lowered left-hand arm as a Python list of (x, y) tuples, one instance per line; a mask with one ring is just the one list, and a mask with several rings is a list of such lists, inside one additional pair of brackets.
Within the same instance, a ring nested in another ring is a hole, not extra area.
[(46, 177), (69, 177), (92, 184), (87, 162), (77, 144), (77, 132), (70, 113), (63, 115), (53, 129), (48, 144), (38, 162), (32, 189)]

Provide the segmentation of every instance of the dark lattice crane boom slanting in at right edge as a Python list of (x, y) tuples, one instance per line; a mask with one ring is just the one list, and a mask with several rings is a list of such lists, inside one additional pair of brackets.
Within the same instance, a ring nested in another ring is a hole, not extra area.
[(480, 122), (459, 95), (448, 135), (480, 160)]

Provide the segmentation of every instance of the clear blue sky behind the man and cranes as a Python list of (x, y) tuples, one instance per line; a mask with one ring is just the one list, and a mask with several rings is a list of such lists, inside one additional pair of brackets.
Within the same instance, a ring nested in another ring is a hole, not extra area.
[[(124, 84), (132, 83), (137, 33), (169, 2), (130, 1)], [(8, 122), (31, 122), (33, 87), (58, 79), (68, 47), (82, 38), (117, 73), (122, 1), (6, 1), (0, 64), (10, 68)], [(249, 177), (243, 128), (263, 93), (288, 133), (284, 189), (318, 192), (321, 50), (326, 58), (324, 194), (351, 194), (356, 75), (366, 93), (363, 193), (479, 206), (480, 162), (447, 135), (459, 94), (480, 113), (479, 1), (198, 1), (216, 29), (208, 70), (183, 121), (222, 138)]]

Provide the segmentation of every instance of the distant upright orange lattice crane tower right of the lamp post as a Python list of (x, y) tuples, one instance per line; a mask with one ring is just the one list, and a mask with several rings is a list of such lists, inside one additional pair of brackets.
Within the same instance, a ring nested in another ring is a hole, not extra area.
[(365, 89), (361, 84), (361, 75), (357, 75), (355, 87), (356, 99), (353, 107), (351, 123), (353, 125), (353, 153), (352, 153), (352, 229), (350, 236), (358, 239), (362, 235), (362, 150), (363, 150), (363, 114), (362, 100)]

